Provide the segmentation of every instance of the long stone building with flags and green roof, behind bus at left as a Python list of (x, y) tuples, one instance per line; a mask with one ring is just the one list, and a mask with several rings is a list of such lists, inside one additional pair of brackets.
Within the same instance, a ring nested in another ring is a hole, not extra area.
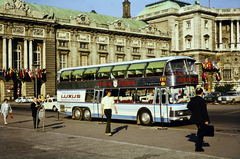
[(0, 100), (17, 98), (17, 92), (26, 97), (35, 91), (55, 95), (62, 68), (170, 55), (168, 33), (143, 21), (21, 0), (0, 0), (0, 5), (2, 72), (46, 69), (46, 80), (36, 78), (37, 87), (35, 78), (7, 80), (0, 72)]

